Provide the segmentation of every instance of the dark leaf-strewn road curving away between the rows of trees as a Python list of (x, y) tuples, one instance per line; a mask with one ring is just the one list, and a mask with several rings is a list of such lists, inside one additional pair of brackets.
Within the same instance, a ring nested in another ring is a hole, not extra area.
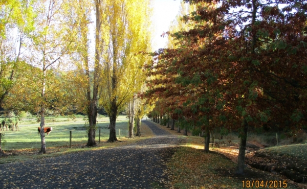
[(104, 150), (0, 165), (0, 188), (165, 188), (181, 138), (150, 121), (156, 137)]

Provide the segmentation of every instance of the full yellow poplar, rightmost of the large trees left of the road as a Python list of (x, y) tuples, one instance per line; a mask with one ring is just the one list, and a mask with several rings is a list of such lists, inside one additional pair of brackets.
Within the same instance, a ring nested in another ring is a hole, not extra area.
[(109, 115), (110, 134), (108, 142), (116, 138), (116, 118), (140, 85), (138, 81), (141, 67), (148, 57), (141, 52), (149, 50), (149, 1), (110, 2), (108, 16), (109, 31), (103, 78), (104, 108)]

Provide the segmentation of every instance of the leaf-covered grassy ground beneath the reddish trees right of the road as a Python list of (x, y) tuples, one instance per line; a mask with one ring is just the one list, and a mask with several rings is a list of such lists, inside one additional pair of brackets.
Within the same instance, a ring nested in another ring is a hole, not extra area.
[[(178, 135), (176, 129), (170, 131), (165, 126), (158, 126), (171, 134)], [(259, 150), (258, 146), (258, 144), (254, 143), (247, 145), (247, 163), (253, 159), (254, 152)], [(279, 175), (276, 172), (261, 171), (250, 166), (247, 166), (244, 175), (234, 174), (238, 155), (238, 145), (236, 143), (231, 142), (220, 145), (220, 147), (210, 144), (210, 153), (204, 153), (203, 149), (204, 138), (197, 136), (185, 137), (181, 148), (176, 151), (172, 160), (168, 163), (171, 188), (243, 188), (243, 181), (246, 183), (246, 181), (257, 180), (286, 181), (287, 188), (307, 188), (307, 185), (296, 183), (293, 179), (288, 179), (284, 175)], [(279, 155), (277, 154), (282, 152), (283, 157), (287, 157), (288, 162), (291, 161), (296, 166), (300, 164), (301, 166), (299, 167), (303, 167), (302, 165), (306, 163), (305, 155), (303, 155), (306, 154), (304, 149), (304, 146), (301, 145), (292, 145), (292, 147), (282, 149), (272, 148), (265, 150), (268, 156), (263, 160), (267, 163), (280, 162), (280, 158), (274, 159), (274, 154), (278, 158)], [(300, 157), (300, 159), (294, 159), (293, 157)], [(253, 188), (257, 187), (254, 185)], [(262, 187), (259, 186), (258, 188)], [(269, 188), (269, 185), (267, 185), (267, 188)]]

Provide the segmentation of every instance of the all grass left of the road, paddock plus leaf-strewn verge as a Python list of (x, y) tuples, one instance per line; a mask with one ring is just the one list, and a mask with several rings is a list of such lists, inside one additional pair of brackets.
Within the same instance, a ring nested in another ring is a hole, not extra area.
[[(84, 150), (96, 150), (102, 148), (111, 148), (116, 146), (126, 145), (128, 143), (135, 143), (136, 141), (153, 136), (152, 131), (145, 125), (141, 125), (142, 137), (134, 139), (127, 138), (127, 120), (125, 116), (119, 116), (116, 122), (116, 134), (119, 139), (119, 129), (121, 130), (120, 141), (115, 143), (106, 143), (109, 137), (109, 124), (108, 117), (98, 120), (98, 129), (96, 130), (96, 143), (97, 147), (84, 148), (87, 143), (87, 134), (84, 127), (84, 121), (77, 119), (74, 121), (61, 122), (63, 118), (57, 118), (54, 123), (46, 123), (47, 127), (52, 127), (53, 130), (46, 135), (47, 154), (41, 155), (38, 153), (40, 150), (40, 135), (37, 132), (39, 124), (27, 124), (19, 126), (19, 131), (1, 131), (5, 133), (6, 143), (2, 144), (2, 149), (8, 155), (0, 158), (0, 163), (7, 163), (13, 161), (25, 161), (33, 158), (42, 158), (50, 156), (58, 156), (66, 153), (74, 153)], [(67, 118), (66, 118), (67, 120)], [(58, 122), (60, 121), (60, 122)], [(101, 130), (100, 143), (99, 129)], [(70, 131), (72, 131), (72, 148), (70, 145)]]

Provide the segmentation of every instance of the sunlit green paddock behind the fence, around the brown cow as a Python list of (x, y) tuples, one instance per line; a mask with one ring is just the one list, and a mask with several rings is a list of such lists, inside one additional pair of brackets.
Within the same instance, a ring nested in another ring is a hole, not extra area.
[[(57, 121), (67, 120), (67, 118), (56, 118)], [(119, 129), (121, 130), (121, 137), (127, 135), (127, 121), (125, 116), (119, 116), (116, 123), (117, 137), (119, 138)], [(83, 122), (83, 123), (80, 123)], [(24, 123), (27, 124), (27, 123)], [(101, 130), (101, 140), (107, 140), (109, 130), (107, 129), (108, 117), (98, 120), (98, 128)], [(19, 125), (19, 131), (1, 131), (5, 133), (6, 143), (3, 150), (22, 150), (22, 149), (39, 149), (40, 135), (37, 132), (39, 124)], [(86, 144), (87, 134), (82, 119), (70, 122), (54, 122), (46, 123), (46, 127), (52, 127), (53, 130), (47, 136), (47, 147), (60, 147), (69, 145), (70, 131), (72, 131), (72, 145)], [(96, 130), (96, 140), (99, 138), (99, 129)]]

